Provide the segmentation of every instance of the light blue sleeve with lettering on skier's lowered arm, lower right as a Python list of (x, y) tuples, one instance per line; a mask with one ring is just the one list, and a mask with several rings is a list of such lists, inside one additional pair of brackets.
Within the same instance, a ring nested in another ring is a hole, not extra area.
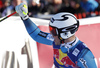
[(80, 68), (97, 68), (94, 55), (90, 50), (86, 51), (86, 54), (79, 58), (77, 65)]

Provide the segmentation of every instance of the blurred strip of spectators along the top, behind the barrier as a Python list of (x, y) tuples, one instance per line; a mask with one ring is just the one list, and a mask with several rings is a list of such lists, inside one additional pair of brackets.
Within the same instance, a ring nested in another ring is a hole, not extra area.
[(22, 2), (27, 3), (30, 17), (50, 19), (58, 12), (70, 12), (78, 19), (100, 15), (100, 0), (0, 0), (0, 17), (14, 12)]

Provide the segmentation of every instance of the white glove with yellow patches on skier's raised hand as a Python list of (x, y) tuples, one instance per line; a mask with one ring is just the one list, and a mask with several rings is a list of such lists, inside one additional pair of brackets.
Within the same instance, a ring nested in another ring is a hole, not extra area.
[(27, 5), (25, 3), (21, 3), (20, 5), (17, 5), (15, 7), (15, 10), (23, 20), (26, 20), (29, 18), (29, 16), (27, 15), (28, 14)]

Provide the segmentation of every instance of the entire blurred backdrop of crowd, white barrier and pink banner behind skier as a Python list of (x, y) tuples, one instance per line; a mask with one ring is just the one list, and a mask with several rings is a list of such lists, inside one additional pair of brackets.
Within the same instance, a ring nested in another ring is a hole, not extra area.
[[(90, 48), (100, 68), (100, 0), (0, 0), (0, 18), (15, 12), (25, 2), (30, 19), (49, 32), (49, 19), (70, 12), (80, 21), (76, 33)], [(53, 48), (37, 43), (27, 33), (19, 15), (0, 22), (0, 68), (54, 68)]]

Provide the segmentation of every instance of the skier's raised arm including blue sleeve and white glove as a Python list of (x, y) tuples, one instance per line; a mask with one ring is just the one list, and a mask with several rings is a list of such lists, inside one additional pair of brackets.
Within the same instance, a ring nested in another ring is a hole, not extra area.
[(16, 6), (16, 12), (22, 18), (29, 35), (37, 42), (52, 45), (53, 39), (50, 33), (42, 32), (28, 17), (27, 6), (24, 3)]

